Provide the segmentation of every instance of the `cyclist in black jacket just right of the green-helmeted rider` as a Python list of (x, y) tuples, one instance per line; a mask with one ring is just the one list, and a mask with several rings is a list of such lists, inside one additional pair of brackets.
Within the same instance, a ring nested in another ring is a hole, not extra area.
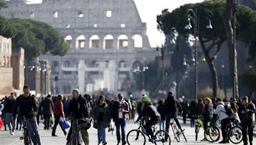
[[(170, 120), (173, 118), (173, 120), (177, 123), (178, 127), (181, 129), (179, 120), (177, 119), (177, 109), (179, 109), (179, 113), (182, 114), (182, 108), (179, 104), (179, 102), (174, 99), (174, 96), (172, 95), (172, 92), (168, 93), (168, 97), (166, 100), (164, 100), (164, 108), (165, 108), (165, 116), (166, 116), (166, 122), (165, 122), (165, 130), (169, 133), (170, 128)], [(184, 131), (184, 130), (182, 130)]]

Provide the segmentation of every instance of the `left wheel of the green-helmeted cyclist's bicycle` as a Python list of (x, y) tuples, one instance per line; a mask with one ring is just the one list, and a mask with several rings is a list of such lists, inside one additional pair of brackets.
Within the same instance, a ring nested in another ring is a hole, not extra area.
[(129, 145), (134, 145), (134, 144), (146, 144), (146, 137), (145, 135), (141, 132), (141, 130), (134, 129), (128, 132), (127, 134), (127, 143)]

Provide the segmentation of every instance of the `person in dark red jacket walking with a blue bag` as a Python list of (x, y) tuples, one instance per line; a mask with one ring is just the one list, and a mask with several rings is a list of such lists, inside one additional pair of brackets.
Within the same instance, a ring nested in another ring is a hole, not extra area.
[[(56, 135), (56, 128), (57, 125), (60, 123), (60, 119), (63, 118), (63, 120), (65, 119), (65, 115), (64, 115), (64, 111), (63, 111), (63, 104), (61, 102), (62, 100), (62, 95), (58, 95), (57, 100), (54, 102), (54, 106), (53, 106), (53, 114), (54, 114), (54, 126), (52, 128), (52, 136), (58, 136)], [(66, 135), (67, 132), (63, 129), (63, 127), (61, 126), (60, 123), (60, 128), (63, 131), (63, 134)]]

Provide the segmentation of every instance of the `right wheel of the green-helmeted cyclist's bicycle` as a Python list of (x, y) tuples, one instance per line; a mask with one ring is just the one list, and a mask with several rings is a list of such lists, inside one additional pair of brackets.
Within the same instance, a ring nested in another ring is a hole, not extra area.
[(159, 130), (155, 134), (155, 139), (156, 139), (156, 144), (171, 144), (171, 138), (170, 135), (164, 131), (164, 130)]

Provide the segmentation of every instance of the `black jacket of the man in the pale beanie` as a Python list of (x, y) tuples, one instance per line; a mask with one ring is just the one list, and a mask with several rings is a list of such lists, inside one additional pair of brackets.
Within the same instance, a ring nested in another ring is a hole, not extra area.
[(78, 99), (72, 99), (68, 105), (68, 114), (74, 119), (89, 118), (89, 108), (84, 97), (79, 96)]

